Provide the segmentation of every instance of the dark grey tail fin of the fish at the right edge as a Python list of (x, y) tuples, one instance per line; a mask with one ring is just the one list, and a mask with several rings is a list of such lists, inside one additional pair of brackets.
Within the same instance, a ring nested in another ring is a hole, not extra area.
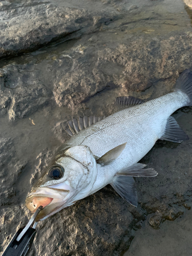
[(190, 102), (188, 106), (192, 105), (192, 71), (185, 69), (176, 81), (176, 89), (181, 90), (188, 97)]

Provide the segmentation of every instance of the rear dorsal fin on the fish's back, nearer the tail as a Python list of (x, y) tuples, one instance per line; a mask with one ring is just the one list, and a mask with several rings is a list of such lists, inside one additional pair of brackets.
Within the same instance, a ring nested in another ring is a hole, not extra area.
[(144, 100), (135, 98), (133, 96), (118, 97), (115, 101), (114, 113), (120, 110), (129, 108), (129, 106), (135, 106), (144, 103)]

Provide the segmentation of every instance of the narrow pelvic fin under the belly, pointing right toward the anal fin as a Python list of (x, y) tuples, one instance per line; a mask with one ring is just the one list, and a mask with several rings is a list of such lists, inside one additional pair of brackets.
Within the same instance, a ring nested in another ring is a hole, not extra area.
[(146, 164), (136, 163), (128, 168), (121, 169), (116, 175), (130, 176), (130, 177), (155, 177), (158, 173), (153, 168), (147, 168)]

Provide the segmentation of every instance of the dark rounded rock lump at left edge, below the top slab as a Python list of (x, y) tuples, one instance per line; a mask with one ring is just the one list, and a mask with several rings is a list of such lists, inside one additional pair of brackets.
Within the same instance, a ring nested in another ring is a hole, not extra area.
[(16, 63), (1, 69), (0, 90), (3, 97), (0, 100), (0, 108), (7, 111), (9, 119), (23, 118), (46, 105), (50, 99), (49, 83), (45, 79), (41, 80), (38, 67), (37, 72), (33, 69), (34, 66), (31, 67), (30, 64)]

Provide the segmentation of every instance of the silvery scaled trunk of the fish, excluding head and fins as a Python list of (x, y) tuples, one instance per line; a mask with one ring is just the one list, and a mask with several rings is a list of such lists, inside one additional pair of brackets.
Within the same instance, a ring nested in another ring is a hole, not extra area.
[[(93, 155), (101, 157), (126, 142), (120, 156), (104, 167), (104, 179), (103, 168), (98, 168), (98, 173), (102, 175), (98, 175), (93, 186), (93, 191), (97, 191), (110, 184), (114, 175), (122, 168), (129, 167), (143, 158), (162, 137), (168, 117), (188, 101), (185, 94), (176, 91), (119, 111), (71, 137), (62, 150), (69, 146), (87, 145)], [(97, 189), (98, 184), (100, 188)]]

